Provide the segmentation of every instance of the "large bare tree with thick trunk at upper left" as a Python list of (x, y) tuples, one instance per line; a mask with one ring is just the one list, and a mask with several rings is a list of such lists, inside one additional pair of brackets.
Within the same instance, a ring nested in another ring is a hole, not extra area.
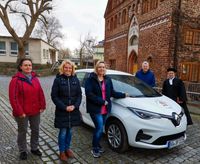
[[(52, 10), (52, 0), (1, 0), (0, 18), (6, 29), (18, 44), (18, 60), (25, 57), (25, 45), (38, 20), (45, 20), (45, 12)], [(12, 15), (19, 16), (24, 20), (25, 30), (22, 37), (17, 34), (17, 30), (11, 22)]]

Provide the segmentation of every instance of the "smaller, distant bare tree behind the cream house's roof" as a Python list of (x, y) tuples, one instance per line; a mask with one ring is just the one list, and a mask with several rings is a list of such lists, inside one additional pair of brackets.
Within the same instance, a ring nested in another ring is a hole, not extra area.
[(50, 45), (58, 48), (59, 40), (63, 39), (63, 34), (61, 33), (62, 25), (54, 16), (46, 17), (46, 21), (39, 21), (34, 31), (34, 36), (44, 39)]

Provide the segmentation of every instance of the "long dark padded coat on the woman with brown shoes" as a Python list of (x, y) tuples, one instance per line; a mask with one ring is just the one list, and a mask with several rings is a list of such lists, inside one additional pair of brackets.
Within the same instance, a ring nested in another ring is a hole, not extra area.
[[(56, 128), (67, 128), (80, 124), (79, 106), (82, 92), (76, 76), (57, 75), (52, 86), (51, 98), (56, 105), (54, 122)], [(72, 112), (66, 111), (69, 105), (75, 106)]]

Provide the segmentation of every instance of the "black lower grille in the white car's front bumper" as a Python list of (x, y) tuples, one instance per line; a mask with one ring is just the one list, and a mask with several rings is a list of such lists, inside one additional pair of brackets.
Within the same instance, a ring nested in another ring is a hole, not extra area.
[(153, 145), (165, 145), (167, 143), (167, 141), (178, 139), (180, 137), (184, 137), (184, 135), (185, 135), (185, 131), (178, 133), (178, 134), (174, 134), (174, 135), (163, 136), (163, 137), (160, 137), (157, 140), (155, 140), (152, 144)]

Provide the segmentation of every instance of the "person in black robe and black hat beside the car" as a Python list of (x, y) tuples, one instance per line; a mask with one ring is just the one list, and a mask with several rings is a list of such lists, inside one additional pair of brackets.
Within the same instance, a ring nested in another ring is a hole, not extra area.
[(187, 96), (185, 91), (184, 83), (181, 79), (175, 77), (176, 69), (168, 68), (168, 78), (163, 83), (162, 94), (176, 101), (180, 106), (183, 107), (185, 115), (187, 117), (187, 124), (192, 125), (192, 118), (187, 108)]

